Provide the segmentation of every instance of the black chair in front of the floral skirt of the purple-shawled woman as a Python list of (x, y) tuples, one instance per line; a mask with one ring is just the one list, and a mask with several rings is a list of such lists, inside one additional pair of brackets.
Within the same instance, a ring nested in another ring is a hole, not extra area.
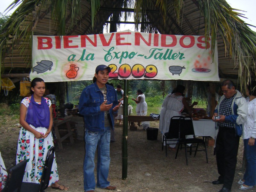
[(44, 189), (48, 187), (50, 181), (52, 163), (54, 160), (54, 150), (54, 146), (52, 146), (47, 152), (40, 184), (22, 182), (20, 192), (44, 192)]

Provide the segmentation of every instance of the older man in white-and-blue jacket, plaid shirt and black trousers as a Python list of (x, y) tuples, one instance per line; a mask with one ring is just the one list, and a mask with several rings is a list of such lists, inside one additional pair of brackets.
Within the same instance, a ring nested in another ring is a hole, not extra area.
[(221, 90), (223, 95), (212, 117), (219, 126), (215, 149), (220, 176), (218, 180), (212, 181), (212, 184), (223, 184), (219, 192), (230, 192), (236, 171), (239, 139), (243, 133), (248, 109), (245, 98), (235, 89), (231, 80), (223, 81)]

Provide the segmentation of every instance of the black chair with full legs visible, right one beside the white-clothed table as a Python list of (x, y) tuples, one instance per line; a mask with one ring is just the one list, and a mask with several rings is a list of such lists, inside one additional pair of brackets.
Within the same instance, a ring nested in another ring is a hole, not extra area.
[[(203, 139), (196, 138), (191, 117), (180, 117), (179, 120), (180, 120), (180, 122), (179, 122), (179, 143), (178, 143), (178, 149), (176, 151), (175, 159), (177, 158), (180, 145), (181, 146), (184, 145), (185, 155), (186, 155), (186, 163), (188, 165), (187, 144), (192, 145), (192, 144), (196, 143), (196, 149), (195, 150), (192, 150), (192, 148), (190, 147), (190, 154), (191, 154), (191, 152), (195, 152), (194, 156), (196, 156), (197, 151), (205, 151), (206, 162), (208, 163), (206, 143)], [(193, 138), (188, 138), (187, 139), (186, 135), (192, 135)], [(199, 143), (204, 144), (204, 149), (198, 150), (198, 144)]]

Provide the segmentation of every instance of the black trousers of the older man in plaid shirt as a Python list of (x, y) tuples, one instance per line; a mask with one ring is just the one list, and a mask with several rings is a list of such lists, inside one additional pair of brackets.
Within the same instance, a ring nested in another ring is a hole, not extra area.
[(218, 180), (228, 189), (231, 189), (235, 176), (239, 139), (234, 128), (220, 127), (216, 140), (216, 160), (220, 174)]

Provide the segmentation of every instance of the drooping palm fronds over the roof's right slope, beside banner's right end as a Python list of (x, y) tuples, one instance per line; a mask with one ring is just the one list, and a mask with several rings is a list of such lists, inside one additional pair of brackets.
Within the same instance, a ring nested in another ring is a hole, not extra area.
[(212, 50), (216, 44), (216, 37), (222, 37), (225, 53), (234, 61), (234, 68), (238, 66), (238, 81), (240, 88), (245, 90), (246, 84), (255, 74), (255, 33), (239, 18), (243, 14), (233, 9), (225, 0), (198, 1), (200, 11), (204, 16), (206, 40), (212, 35)]

